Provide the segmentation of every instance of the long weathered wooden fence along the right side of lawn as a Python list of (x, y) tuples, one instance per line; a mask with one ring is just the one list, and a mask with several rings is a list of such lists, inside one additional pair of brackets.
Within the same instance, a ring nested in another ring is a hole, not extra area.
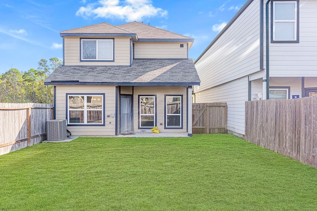
[(317, 168), (317, 96), (246, 102), (246, 139)]

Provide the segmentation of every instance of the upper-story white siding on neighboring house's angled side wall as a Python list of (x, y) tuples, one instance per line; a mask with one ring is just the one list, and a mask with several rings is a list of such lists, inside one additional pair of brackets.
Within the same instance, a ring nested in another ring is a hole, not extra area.
[(201, 79), (200, 90), (227, 83), (260, 70), (259, 20), (259, 1), (253, 1), (196, 62), (195, 66)]

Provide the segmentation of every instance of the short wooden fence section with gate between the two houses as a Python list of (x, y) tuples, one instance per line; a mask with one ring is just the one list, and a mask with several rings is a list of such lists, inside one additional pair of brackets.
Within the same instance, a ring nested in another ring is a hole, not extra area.
[(227, 103), (193, 103), (193, 133), (227, 133)]

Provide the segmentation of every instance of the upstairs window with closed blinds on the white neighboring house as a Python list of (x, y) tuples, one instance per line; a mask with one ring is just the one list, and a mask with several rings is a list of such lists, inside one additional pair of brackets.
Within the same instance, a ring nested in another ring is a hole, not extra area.
[(298, 42), (298, 1), (273, 1), (272, 42)]

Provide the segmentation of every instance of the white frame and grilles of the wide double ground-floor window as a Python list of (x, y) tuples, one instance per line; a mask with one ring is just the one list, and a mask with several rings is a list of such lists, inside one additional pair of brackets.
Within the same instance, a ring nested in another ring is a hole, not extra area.
[[(83, 109), (71, 109), (69, 108), (69, 96), (84, 96), (84, 108)], [(87, 96), (102, 97), (101, 109), (87, 109)], [(67, 124), (68, 125), (104, 125), (104, 95), (100, 94), (67, 94)], [(84, 111), (84, 123), (70, 123), (70, 111)], [(102, 111), (102, 123), (88, 123), (87, 111)]]

